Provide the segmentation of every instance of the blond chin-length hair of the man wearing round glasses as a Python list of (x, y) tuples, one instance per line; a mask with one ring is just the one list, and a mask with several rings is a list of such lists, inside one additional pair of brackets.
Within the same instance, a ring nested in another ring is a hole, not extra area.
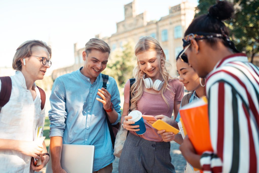
[(25, 57), (31, 56), (31, 52), (33, 47), (41, 46), (45, 47), (49, 53), (49, 59), (51, 58), (51, 47), (47, 45), (44, 41), (40, 40), (28, 40), (22, 43), (15, 52), (15, 56), (13, 56), (13, 69), (16, 71), (21, 71), (21, 59)]

